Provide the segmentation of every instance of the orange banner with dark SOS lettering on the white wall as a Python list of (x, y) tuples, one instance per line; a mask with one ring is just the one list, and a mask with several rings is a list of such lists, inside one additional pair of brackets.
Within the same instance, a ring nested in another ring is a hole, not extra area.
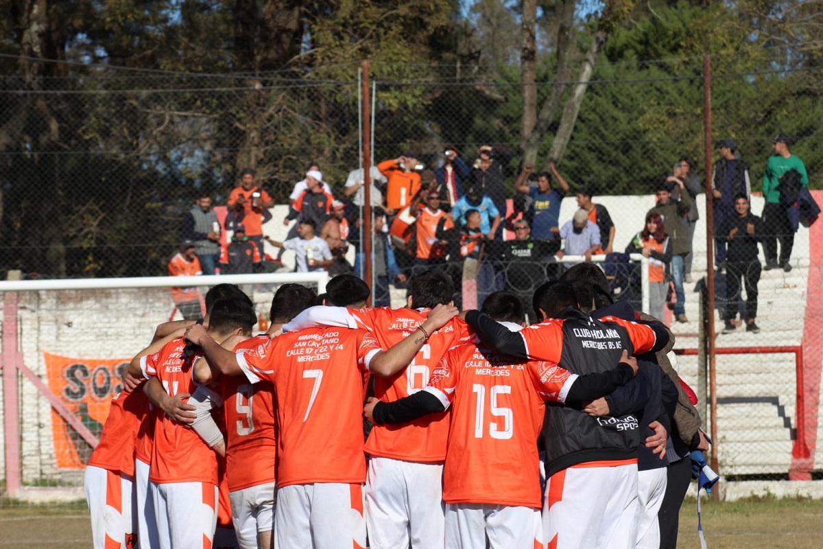
[[(68, 358), (47, 352), (43, 356), (52, 393), (99, 438), (109, 417), (111, 399), (123, 390), (120, 375), (131, 359)], [(58, 468), (86, 467), (91, 445), (53, 409), (52, 440)]]

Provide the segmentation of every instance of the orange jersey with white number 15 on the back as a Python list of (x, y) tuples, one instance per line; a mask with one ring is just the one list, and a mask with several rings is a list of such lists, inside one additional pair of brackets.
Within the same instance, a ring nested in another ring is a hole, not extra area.
[(452, 407), (447, 503), (541, 507), (537, 436), (545, 402), (564, 402), (578, 376), (546, 361), (510, 360), (481, 344), (453, 347), (425, 389)]

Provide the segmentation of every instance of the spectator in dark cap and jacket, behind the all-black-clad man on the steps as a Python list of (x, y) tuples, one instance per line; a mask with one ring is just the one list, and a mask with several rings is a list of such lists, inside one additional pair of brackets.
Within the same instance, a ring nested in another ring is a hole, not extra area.
[(735, 152), (737, 142), (733, 139), (723, 139), (718, 145), (720, 160), (712, 170), (712, 208), (714, 212), (714, 249), (716, 267), (718, 270), (726, 267), (726, 240), (728, 234), (720, 232), (719, 228), (728, 217), (735, 217), (735, 197), (743, 194), (746, 198), (751, 195), (751, 177), (749, 165), (740, 160)]

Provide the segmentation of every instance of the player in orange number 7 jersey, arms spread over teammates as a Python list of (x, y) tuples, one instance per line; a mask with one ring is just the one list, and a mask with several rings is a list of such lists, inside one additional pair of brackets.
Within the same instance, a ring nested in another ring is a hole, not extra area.
[(363, 375), (396, 375), (457, 314), (439, 305), (384, 351), (360, 329), (309, 328), (262, 346), (223, 349), (202, 326), (185, 337), (222, 375), (272, 382), (277, 395), (275, 547), (365, 547)]

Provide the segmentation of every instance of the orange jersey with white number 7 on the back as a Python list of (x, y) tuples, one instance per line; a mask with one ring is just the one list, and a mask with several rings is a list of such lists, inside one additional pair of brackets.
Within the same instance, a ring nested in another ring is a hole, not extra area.
[(277, 485), (365, 482), (363, 373), (380, 351), (364, 330), (310, 328), (238, 351), (277, 393)]

